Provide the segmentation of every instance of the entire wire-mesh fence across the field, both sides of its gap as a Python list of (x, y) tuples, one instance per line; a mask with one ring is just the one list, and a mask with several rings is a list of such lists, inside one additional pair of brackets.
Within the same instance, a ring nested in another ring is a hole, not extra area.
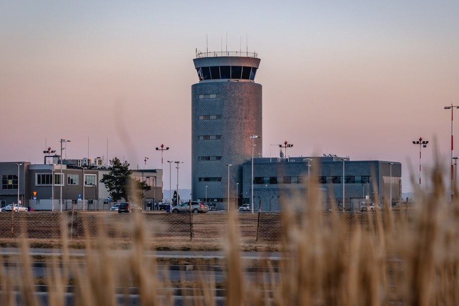
[[(211, 214), (206, 214), (211, 215)], [(258, 215), (245, 221), (239, 220), (242, 238), (251, 238), (257, 241), (279, 241), (284, 234), (285, 221), (281, 213), (258, 212)], [(379, 214), (384, 218), (384, 214)], [(405, 218), (405, 214), (393, 214)], [(207, 216), (206, 216), (207, 217)], [(103, 235), (108, 238), (129, 238), (136, 225), (141, 225), (148, 237), (190, 237), (193, 239), (198, 233), (200, 238), (221, 238), (221, 231), (205, 231), (210, 219), (195, 220), (192, 213), (80, 213), (80, 212), (33, 212), (0, 214), (0, 238), (28, 237), (32, 239), (58, 239), (65, 233), (69, 238), (83, 239)], [(323, 226), (331, 226), (333, 218), (339, 218), (348, 228), (360, 225), (362, 227), (375, 226), (376, 214), (350, 213), (323, 213), (319, 222)], [(293, 215), (293, 222), (301, 227), (303, 220), (307, 220), (301, 213)], [(245, 224), (244, 224), (245, 222)], [(219, 224), (220, 226), (220, 224)], [(220, 226), (221, 227), (221, 226)], [(197, 230), (196, 230), (196, 229)], [(256, 228), (256, 230), (255, 230)]]

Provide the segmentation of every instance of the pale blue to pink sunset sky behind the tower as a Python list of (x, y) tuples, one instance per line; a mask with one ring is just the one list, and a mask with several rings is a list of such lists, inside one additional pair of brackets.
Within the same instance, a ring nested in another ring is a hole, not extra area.
[(67, 158), (106, 157), (108, 139), (109, 159), (161, 168), (164, 143), (165, 188), (167, 160), (184, 162), (191, 188), (196, 49), (248, 49), (261, 59), (265, 157), (287, 140), (290, 156), (400, 162), (410, 192), (412, 140), (429, 140), (425, 174), (435, 155), (450, 165), (458, 16), (456, 1), (0, 0), (0, 161), (43, 163), (61, 138)]

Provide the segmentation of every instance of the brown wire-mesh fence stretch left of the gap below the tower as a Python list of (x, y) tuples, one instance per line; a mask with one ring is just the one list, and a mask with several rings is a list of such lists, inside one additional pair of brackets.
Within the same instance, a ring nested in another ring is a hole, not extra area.
[[(141, 218), (141, 219), (136, 219)], [(0, 238), (58, 239), (129, 238), (135, 222), (143, 222), (148, 237), (194, 237), (193, 214), (91, 214), (79, 212), (1, 213)], [(64, 227), (63, 227), (64, 226)]]

